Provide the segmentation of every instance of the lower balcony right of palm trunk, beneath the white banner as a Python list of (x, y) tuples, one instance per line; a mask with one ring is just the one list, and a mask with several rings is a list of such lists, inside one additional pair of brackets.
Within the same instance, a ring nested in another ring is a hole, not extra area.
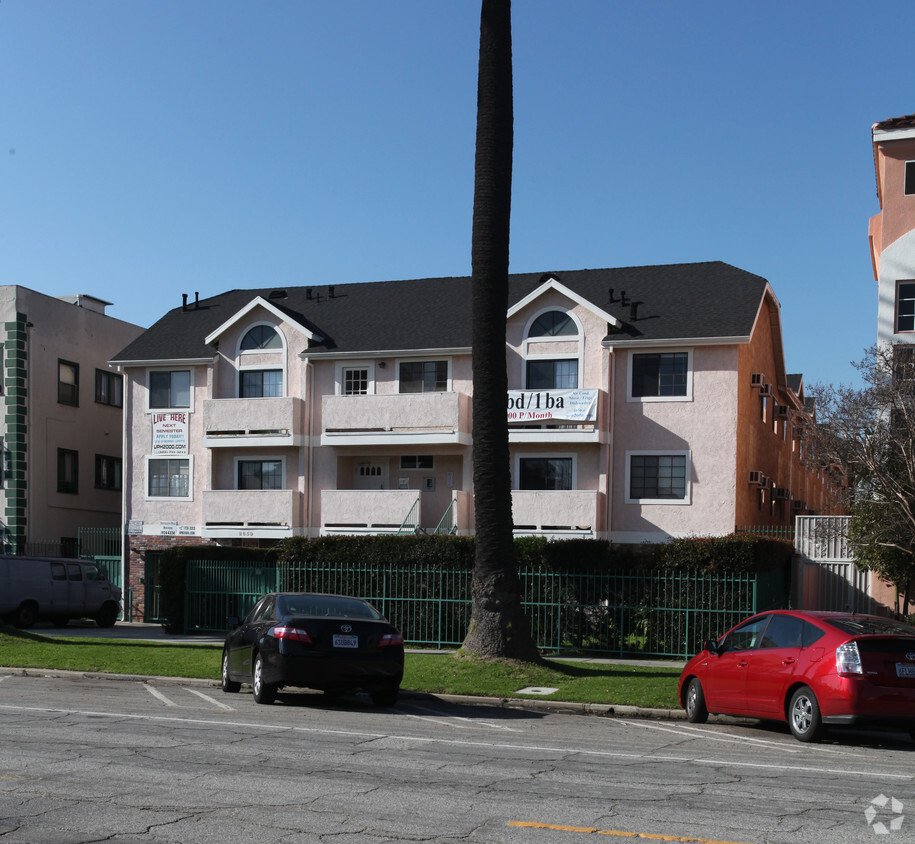
[(597, 490), (512, 491), (516, 536), (581, 536), (604, 532), (604, 493)]

